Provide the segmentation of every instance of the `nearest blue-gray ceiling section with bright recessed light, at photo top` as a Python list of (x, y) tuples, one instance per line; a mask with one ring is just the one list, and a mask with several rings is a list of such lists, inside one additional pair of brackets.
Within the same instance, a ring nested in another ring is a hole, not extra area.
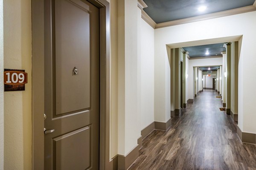
[[(255, 0), (144, 0), (144, 11), (156, 23), (195, 17), (234, 8), (253, 5)], [(203, 12), (200, 6), (207, 6)]]

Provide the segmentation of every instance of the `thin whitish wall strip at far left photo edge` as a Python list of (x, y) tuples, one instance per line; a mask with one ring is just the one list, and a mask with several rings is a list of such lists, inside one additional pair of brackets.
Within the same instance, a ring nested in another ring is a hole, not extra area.
[[(0, 0), (0, 70), (3, 71), (3, 0)], [(0, 74), (0, 170), (3, 170), (4, 116), (3, 116), (3, 74)]]

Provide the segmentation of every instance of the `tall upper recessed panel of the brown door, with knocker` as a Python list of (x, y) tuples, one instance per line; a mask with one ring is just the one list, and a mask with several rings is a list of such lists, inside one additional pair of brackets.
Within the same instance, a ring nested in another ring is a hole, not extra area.
[[(86, 7), (55, 0), (57, 115), (90, 107), (90, 14)], [(75, 67), (83, 79), (74, 75)]]

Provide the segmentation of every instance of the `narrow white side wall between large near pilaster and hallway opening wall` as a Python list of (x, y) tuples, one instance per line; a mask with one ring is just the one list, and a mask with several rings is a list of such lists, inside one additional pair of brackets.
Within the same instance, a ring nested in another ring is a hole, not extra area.
[(154, 28), (141, 22), (141, 129), (154, 122)]

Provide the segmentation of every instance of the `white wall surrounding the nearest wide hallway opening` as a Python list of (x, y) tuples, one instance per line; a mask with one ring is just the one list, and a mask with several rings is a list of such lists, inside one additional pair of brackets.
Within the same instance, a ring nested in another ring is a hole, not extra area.
[[(165, 100), (169, 100), (162, 95), (166, 94), (166, 87), (164, 86), (169, 81), (166, 77), (169, 77), (170, 74), (170, 68), (166, 67), (165, 64), (167, 58), (166, 44), (170, 48), (178, 48), (181, 47), (180, 44), (183, 42), (186, 42), (187, 45), (191, 45), (192, 42), (195, 42), (194, 45), (207, 44), (207, 42), (228, 42), (239, 40), (242, 35), (240, 59), (243, 62), (239, 62), (239, 114), (243, 116), (242, 122), (246, 123), (242, 123), (239, 120), (239, 127), (244, 132), (256, 133), (256, 112), (253, 112), (256, 110), (256, 99), (255, 96), (250, 95), (256, 94), (256, 88), (253, 87), (256, 84), (256, 79), (251, 79), (250, 74), (245, 74), (253, 70), (256, 65), (256, 57), (251, 53), (251, 49), (256, 46), (255, 18), (256, 11), (253, 11), (156, 29), (155, 77), (157, 77), (156, 81), (160, 85), (155, 86), (155, 94), (158, 94), (157, 96), (155, 95), (155, 101), (161, 100), (161, 102), (155, 102), (155, 107), (166, 108)], [(241, 77), (243, 77), (244, 81), (240, 80)], [(243, 96), (242, 101), (241, 96)], [(161, 112), (167, 115), (170, 110), (169, 108), (163, 109)]]

